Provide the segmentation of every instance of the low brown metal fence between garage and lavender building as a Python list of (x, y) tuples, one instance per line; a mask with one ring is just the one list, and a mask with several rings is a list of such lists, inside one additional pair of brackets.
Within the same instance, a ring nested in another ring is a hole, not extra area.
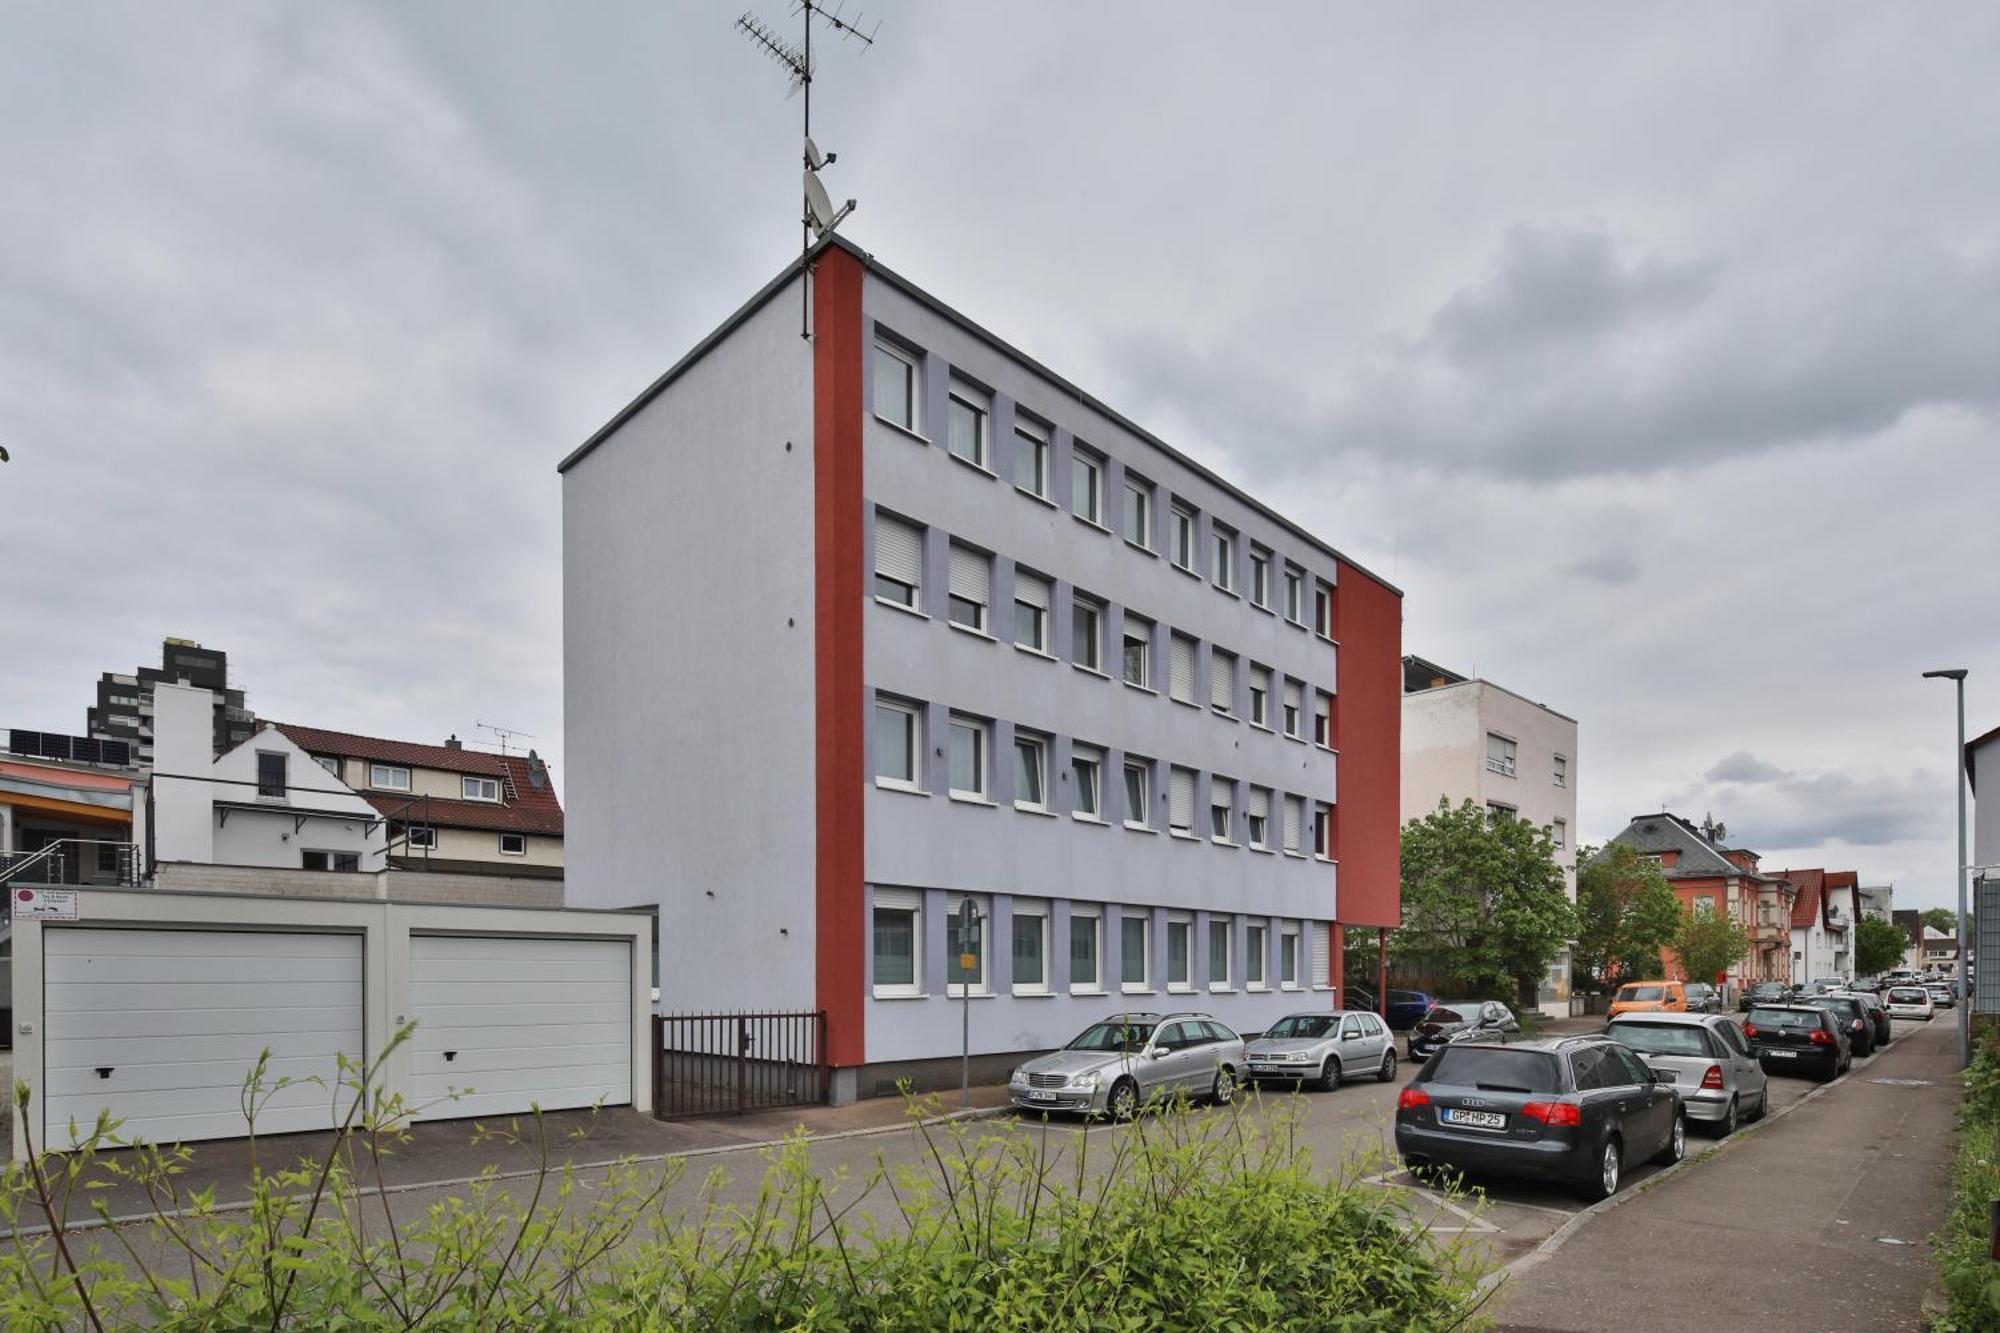
[(652, 1019), (662, 1121), (826, 1101), (826, 1013), (674, 1013)]

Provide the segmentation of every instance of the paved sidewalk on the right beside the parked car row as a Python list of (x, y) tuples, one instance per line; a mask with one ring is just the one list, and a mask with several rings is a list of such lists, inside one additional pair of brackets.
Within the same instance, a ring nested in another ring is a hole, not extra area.
[[(1958, 1111), (1948, 1017), (1590, 1217), (1496, 1297), (1496, 1333), (1922, 1329)], [(1888, 1081), (1920, 1081), (1918, 1085)]]

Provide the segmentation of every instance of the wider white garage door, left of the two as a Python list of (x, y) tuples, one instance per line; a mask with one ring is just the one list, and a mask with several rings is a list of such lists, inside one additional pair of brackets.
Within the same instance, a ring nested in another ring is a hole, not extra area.
[(334, 1123), (336, 1055), (362, 1059), (362, 941), (280, 931), (46, 927), (44, 1127), (72, 1143), (100, 1109), (126, 1137), (176, 1143), (248, 1133), (244, 1075), (266, 1047), (266, 1079), (294, 1085), (256, 1129)]

